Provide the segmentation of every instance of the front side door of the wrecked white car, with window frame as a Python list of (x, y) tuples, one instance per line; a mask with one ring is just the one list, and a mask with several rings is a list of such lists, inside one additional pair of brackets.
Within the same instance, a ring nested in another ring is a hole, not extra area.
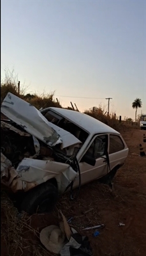
[[(99, 177), (103, 177), (108, 172), (108, 166), (106, 162), (106, 150), (108, 147), (108, 134), (100, 134), (95, 136), (84, 155), (88, 155), (96, 160), (94, 166), (87, 164), (83, 161), (83, 157), (79, 163), (81, 173), (81, 184), (88, 183), (92, 180), (96, 180)], [(78, 186), (78, 178), (74, 182), (74, 187)]]

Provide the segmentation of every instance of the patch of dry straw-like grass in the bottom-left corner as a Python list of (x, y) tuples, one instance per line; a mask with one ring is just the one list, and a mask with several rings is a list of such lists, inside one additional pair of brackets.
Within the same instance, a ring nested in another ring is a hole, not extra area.
[(10, 198), (3, 191), (1, 191), (1, 219), (1, 243), (6, 246), (8, 253), (6, 255), (53, 256), (41, 246), (40, 232), (38, 228), (31, 227), (31, 216), (18, 213)]

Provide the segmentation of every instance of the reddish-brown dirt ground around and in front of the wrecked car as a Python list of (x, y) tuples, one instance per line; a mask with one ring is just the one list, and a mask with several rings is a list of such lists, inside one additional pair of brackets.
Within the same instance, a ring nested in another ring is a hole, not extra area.
[[(20, 220), (20, 224), (17, 220), (19, 229), (22, 225), (24, 227), (19, 230), (20, 237), (15, 235), (11, 239), (10, 234), (13, 236), (15, 232), (8, 232), (7, 238), (4, 235), (10, 224), (8, 219), (6, 222), (6, 211), (1, 209), (1, 255), (52, 255), (45, 252), (38, 237), (42, 228), (58, 223), (57, 210), (61, 209), (67, 219), (73, 217), (71, 225), (82, 235), (89, 237), (94, 256), (145, 256), (146, 157), (138, 156), (140, 143), (146, 152), (143, 133), (134, 129), (122, 133), (129, 147), (129, 156), (117, 172), (113, 191), (97, 181), (87, 184), (81, 188), (77, 201), (69, 202), (69, 195), (64, 195), (52, 214), (26, 216)], [(82, 214), (91, 208), (91, 212)], [(13, 221), (16, 221), (16, 217)], [(119, 227), (120, 222), (125, 225)], [(83, 230), (100, 223), (105, 228), (99, 230), (98, 237), (93, 236), (94, 230)], [(17, 226), (13, 228), (18, 229)], [(10, 243), (7, 241), (8, 237)], [(21, 241), (20, 244), (15, 241), (17, 239)]]

